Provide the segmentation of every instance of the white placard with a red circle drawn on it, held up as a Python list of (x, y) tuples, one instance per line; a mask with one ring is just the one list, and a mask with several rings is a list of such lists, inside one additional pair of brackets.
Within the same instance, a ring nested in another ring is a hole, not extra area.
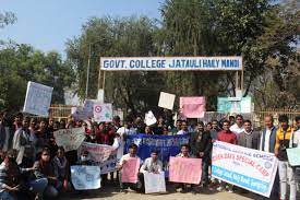
[(112, 121), (112, 105), (94, 103), (95, 121)]

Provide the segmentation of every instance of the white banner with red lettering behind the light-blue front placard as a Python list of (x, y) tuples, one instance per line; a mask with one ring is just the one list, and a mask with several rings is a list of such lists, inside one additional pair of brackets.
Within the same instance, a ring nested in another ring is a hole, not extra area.
[(106, 144), (82, 142), (82, 145), (77, 151), (79, 155), (84, 151), (88, 152), (92, 161), (105, 162), (111, 155), (113, 148)]

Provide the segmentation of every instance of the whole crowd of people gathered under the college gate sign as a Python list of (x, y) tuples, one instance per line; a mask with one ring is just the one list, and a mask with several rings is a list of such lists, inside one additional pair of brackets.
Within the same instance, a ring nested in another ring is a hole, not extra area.
[[(278, 173), (275, 178), (271, 199), (286, 199), (287, 185), (290, 185), (289, 199), (296, 200), (297, 167), (288, 163), (288, 148), (300, 146), (300, 117), (296, 125), (289, 125), (287, 116), (279, 117), (278, 127), (274, 126), (272, 116), (266, 116), (265, 127), (254, 130), (251, 120), (243, 116), (231, 116), (228, 119), (209, 122), (177, 120), (176, 125), (166, 117), (157, 117), (157, 122), (146, 126), (142, 117), (128, 117), (121, 125), (118, 116), (112, 122), (94, 122), (75, 120), (72, 116), (64, 120), (37, 119), (23, 116), (22, 113), (13, 118), (7, 113), (0, 113), (0, 199), (43, 199), (56, 198), (61, 192), (72, 190), (70, 181), (71, 165), (89, 165), (88, 152), (77, 156), (76, 151), (64, 152), (56, 144), (53, 132), (59, 129), (80, 128), (85, 132), (85, 141), (111, 145), (117, 151), (119, 173), (129, 157), (136, 155), (137, 146), (131, 144), (124, 154), (125, 137), (130, 134), (190, 134), (190, 142), (181, 145), (177, 156), (202, 158), (202, 179), (200, 186), (192, 186), (192, 192), (200, 188), (209, 190), (228, 190), (229, 192), (244, 191), (240, 188), (218, 181), (211, 177), (211, 157), (213, 143), (223, 141), (231, 144), (274, 153), (279, 160)], [(153, 151), (147, 160), (141, 162), (139, 181), (133, 188), (144, 191), (143, 172), (160, 173), (163, 163), (158, 160), (158, 151)], [(103, 180), (106, 181), (104, 175)], [(119, 175), (120, 189), (127, 189)], [(130, 186), (131, 187), (131, 186)], [(176, 185), (178, 191), (188, 191), (185, 184)]]

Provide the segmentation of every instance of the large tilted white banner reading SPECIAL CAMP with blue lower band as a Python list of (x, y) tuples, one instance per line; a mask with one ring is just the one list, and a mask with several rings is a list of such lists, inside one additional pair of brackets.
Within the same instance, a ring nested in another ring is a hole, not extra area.
[(269, 197), (277, 172), (274, 154), (225, 142), (214, 142), (212, 176)]

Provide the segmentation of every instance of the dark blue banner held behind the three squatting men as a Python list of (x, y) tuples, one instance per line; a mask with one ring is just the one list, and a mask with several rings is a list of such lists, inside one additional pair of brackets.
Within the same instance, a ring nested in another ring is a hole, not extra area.
[(131, 143), (137, 145), (137, 155), (141, 160), (151, 156), (153, 150), (159, 152), (159, 160), (164, 163), (169, 162), (170, 156), (176, 156), (180, 152), (180, 145), (189, 143), (190, 134), (180, 136), (148, 136), (148, 134), (134, 134), (128, 136), (125, 142), (125, 153)]

